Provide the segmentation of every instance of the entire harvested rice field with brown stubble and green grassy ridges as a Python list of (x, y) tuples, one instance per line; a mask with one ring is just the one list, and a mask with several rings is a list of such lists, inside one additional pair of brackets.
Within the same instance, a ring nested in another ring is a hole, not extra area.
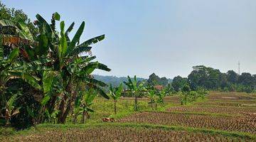
[(179, 104), (178, 97), (167, 97), (164, 109), (139, 111), (115, 122), (41, 124), (36, 129), (0, 138), (1, 141), (256, 141), (256, 95), (210, 92), (203, 101), (186, 106)]

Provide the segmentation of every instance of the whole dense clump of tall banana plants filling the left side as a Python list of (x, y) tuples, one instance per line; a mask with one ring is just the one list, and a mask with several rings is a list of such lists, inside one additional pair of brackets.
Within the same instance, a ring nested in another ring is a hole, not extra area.
[[(77, 110), (88, 117), (93, 100), (87, 91), (90, 89), (109, 99), (101, 89), (107, 84), (91, 75), (95, 69), (110, 71), (106, 65), (92, 61), (96, 57), (90, 47), (105, 35), (80, 42), (85, 22), (70, 38), (75, 23), (65, 30), (58, 13), (53, 13), (50, 23), (37, 14), (30, 28), (31, 22), (22, 11), (1, 5), (0, 12), (1, 124), (11, 122), (23, 129), (44, 121), (65, 123), (67, 116)], [(60, 31), (55, 28), (58, 21)], [(35, 29), (38, 33), (31, 33)]]

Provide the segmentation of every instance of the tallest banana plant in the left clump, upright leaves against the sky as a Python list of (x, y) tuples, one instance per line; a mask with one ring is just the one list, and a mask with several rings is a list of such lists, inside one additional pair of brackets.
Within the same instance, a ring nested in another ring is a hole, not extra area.
[[(46, 88), (55, 87), (56, 84), (58, 84), (57, 86), (60, 86), (61, 84), (63, 87), (58, 87), (54, 92), (45, 89), (43, 94), (43, 104), (48, 108), (49, 112), (53, 112), (57, 98), (60, 98), (60, 105), (58, 106), (60, 112), (58, 115), (58, 123), (64, 123), (65, 118), (73, 107), (72, 102), (74, 102), (76, 96), (74, 90), (78, 84), (78, 78), (79, 80), (87, 82), (91, 87), (97, 88), (102, 96), (107, 96), (105, 92), (99, 88), (99, 84), (102, 83), (92, 79), (90, 74), (95, 69), (107, 71), (110, 71), (110, 69), (99, 62), (90, 62), (92, 58), (87, 56), (87, 53), (90, 53), (92, 48), (90, 45), (103, 40), (105, 35), (100, 35), (80, 43), (80, 36), (85, 28), (85, 22), (81, 23), (78, 31), (71, 40), (68, 35), (73, 30), (75, 23), (72, 23), (65, 31), (65, 23), (64, 21), (61, 21), (60, 32), (58, 32), (55, 29), (56, 21), (60, 21), (60, 15), (58, 13), (53, 13), (50, 24), (39, 14), (36, 15), (36, 18), (38, 19), (36, 21), (36, 26), (38, 26), (40, 31), (40, 34), (36, 39), (38, 45), (33, 48), (26, 48), (26, 53), (28, 54), (29, 59), (32, 60), (40, 58), (41, 56), (47, 56), (51, 59), (51, 62), (49, 62), (47, 66), (53, 67), (52, 71), (58, 72), (58, 75), (60, 75), (61, 83), (60, 81), (50, 82), (49, 84), (48, 82), (44, 83), (48, 86)], [(80, 62), (78, 62), (78, 60), (80, 60)]]

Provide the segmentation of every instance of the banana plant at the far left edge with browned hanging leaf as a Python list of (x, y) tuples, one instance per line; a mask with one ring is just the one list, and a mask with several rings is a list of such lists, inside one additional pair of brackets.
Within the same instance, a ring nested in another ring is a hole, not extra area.
[[(28, 87), (36, 89), (36, 92), (41, 92), (41, 75), (38, 75), (37, 72), (48, 70), (45, 64), (50, 62), (50, 60), (48, 60), (46, 57), (36, 58), (35, 60), (31, 60), (29, 58), (26, 48), (30, 49), (33, 48), (33, 46), (38, 46), (38, 42), (34, 40), (28, 26), (26, 26), (26, 23), (18, 22), (18, 25), (15, 25), (12, 21), (0, 20), (0, 26), (1, 29), (11, 27), (14, 29), (14, 31), (16, 31), (12, 34), (9, 32), (4, 32), (0, 36), (0, 66), (5, 66), (1, 68), (6, 69), (0, 71), (1, 73), (5, 72), (5, 75), (1, 75), (1, 80), (5, 80), (1, 82), (1, 86), (6, 86), (6, 82), (11, 79), (21, 78), (23, 81), (30, 84)], [(8, 58), (5, 57), (6, 53), (8, 52), (4, 53), (4, 48), (13, 49), (11, 53), (9, 53)], [(6, 96), (5, 93), (3, 95)]]

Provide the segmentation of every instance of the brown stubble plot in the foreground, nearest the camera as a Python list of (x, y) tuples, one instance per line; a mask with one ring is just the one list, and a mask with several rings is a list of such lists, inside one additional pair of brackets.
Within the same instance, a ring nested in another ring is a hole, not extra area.
[(146, 129), (129, 127), (102, 127), (46, 131), (31, 136), (20, 136), (14, 141), (250, 141), (249, 138), (223, 136), (202, 132)]

